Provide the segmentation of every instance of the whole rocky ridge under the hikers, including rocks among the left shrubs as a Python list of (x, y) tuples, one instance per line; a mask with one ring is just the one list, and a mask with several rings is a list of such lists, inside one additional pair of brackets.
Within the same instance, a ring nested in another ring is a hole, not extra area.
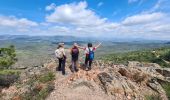
[[(49, 91), (46, 100), (145, 100), (148, 96), (168, 100), (161, 83), (169, 83), (170, 70), (158, 64), (130, 61), (128, 65), (118, 65), (98, 60), (91, 71), (85, 71), (80, 65), (76, 73), (70, 71), (69, 65), (67, 62), (65, 76), (56, 72), (57, 62), (54, 59), (42, 66), (27, 68), (20, 75), (21, 83), (24, 85), (30, 78), (28, 76), (52, 71), (55, 80), (50, 84), (54, 84), (54, 90)], [(4, 100), (22, 100), (19, 96), (28, 91), (27, 85), (22, 88), (11, 85), (2, 89), (1, 93), (8, 94), (8, 97), (2, 96)]]

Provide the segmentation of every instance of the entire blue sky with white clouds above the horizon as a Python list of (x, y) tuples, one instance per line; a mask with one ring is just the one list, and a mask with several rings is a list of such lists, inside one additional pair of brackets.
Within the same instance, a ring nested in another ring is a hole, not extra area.
[(0, 35), (170, 40), (170, 0), (0, 0)]

